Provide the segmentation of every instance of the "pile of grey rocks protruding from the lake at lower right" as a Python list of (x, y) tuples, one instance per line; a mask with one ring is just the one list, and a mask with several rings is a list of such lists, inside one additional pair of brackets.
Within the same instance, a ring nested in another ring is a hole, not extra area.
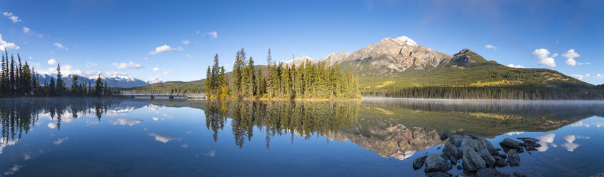
[[(515, 171), (510, 175), (501, 173), (496, 168), (520, 166), (518, 153), (535, 151), (536, 148), (541, 146), (537, 143), (539, 140), (536, 138), (517, 138), (522, 142), (505, 138), (499, 143), (503, 148), (500, 149), (495, 148), (485, 138), (471, 134), (448, 136), (446, 132), (441, 133), (442, 140), (447, 138), (448, 141), (446, 141), (441, 154), (435, 153), (416, 158), (413, 161), (413, 168), (418, 170), (424, 167), (426, 176), (431, 177), (454, 176), (447, 172), (453, 166), (463, 170), (463, 173), (458, 173), (455, 176), (526, 176), (521, 171)], [(500, 153), (500, 151), (503, 152)]]

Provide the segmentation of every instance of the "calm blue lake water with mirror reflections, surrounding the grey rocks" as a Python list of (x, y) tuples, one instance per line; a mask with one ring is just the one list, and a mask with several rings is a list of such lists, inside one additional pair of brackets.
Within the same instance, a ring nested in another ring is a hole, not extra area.
[(594, 101), (4, 98), (0, 176), (424, 176), (411, 163), (443, 131), (540, 139), (503, 173), (590, 176), (603, 116)]

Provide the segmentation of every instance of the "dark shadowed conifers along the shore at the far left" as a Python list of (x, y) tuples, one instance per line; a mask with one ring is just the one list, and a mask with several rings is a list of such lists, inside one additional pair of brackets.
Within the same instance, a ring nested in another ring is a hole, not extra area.
[[(10, 60), (9, 60), (10, 59)], [(65, 86), (61, 74), (61, 64), (56, 66), (56, 79), (40, 81), (38, 72), (25, 61), (21, 64), (21, 56), (9, 57), (4, 49), (0, 71), (0, 97), (27, 97), (27, 96), (111, 96), (113, 91), (103, 81), (101, 76), (96, 79), (94, 86), (91, 83), (78, 83), (78, 76), (71, 77), (71, 87)]]

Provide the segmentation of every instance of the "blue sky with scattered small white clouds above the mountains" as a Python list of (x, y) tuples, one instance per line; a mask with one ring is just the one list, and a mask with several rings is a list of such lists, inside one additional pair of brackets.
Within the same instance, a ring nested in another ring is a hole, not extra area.
[(266, 64), (269, 48), (277, 61), (320, 59), (408, 36), (604, 84), (601, 9), (604, 1), (0, 1), (0, 45), (41, 72), (56, 61), (87, 76), (192, 81), (214, 54), (231, 70), (241, 47)]

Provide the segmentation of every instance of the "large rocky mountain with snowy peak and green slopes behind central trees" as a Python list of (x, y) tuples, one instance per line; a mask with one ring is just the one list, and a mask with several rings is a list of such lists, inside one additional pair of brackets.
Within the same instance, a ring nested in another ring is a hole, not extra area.
[[(352, 71), (359, 77), (361, 90), (397, 91), (426, 86), (438, 87), (533, 87), (598, 89), (551, 69), (520, 69), (488, 61), (470, 49), (449, 55), (421, 46), (406, 36), (385, 38), (352, 53), (331, 53), (319, 60), (298, 56), (286, 65), (299, 66), (304, 61), (337, 65), (341, 71)], [(264, 66), (257, 66), (264, 67)], [(196, 88), (203, 91), (203, 79), (190, 82), (151, 84), (130, 90), (166, 91)]]

